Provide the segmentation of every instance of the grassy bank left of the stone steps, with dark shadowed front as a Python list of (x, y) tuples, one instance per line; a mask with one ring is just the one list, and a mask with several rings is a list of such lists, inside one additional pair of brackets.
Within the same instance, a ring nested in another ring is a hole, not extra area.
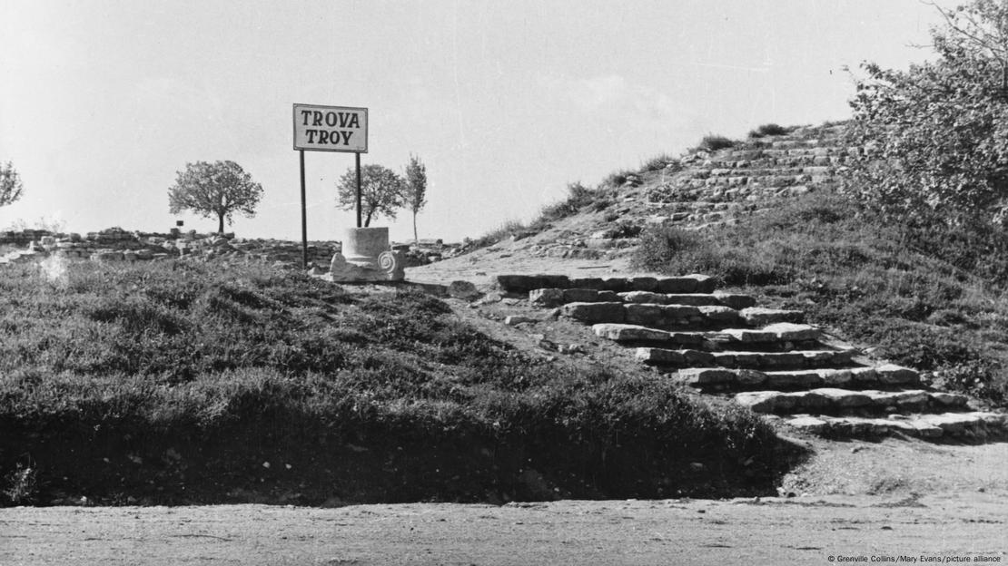
[[(169, 502), (262, 480), (313, 493), (305, 503), (333, 490), (534, 499), (515, 479), (533, 460), (557, 492), (653, 497), (690, 461), (777, 465), (747, 411), (526, 355), (412, 291), (256, 265), (84, 262), (57, 276), (5, 267), (0, 312), (0, 477), (12, 482), (0, 487), (21, 501), (36, 479), (43, 494), (113, 503), (154, 480)], [(30, 477), (13, 467), (22, 454)], [(296, 471), (260, 465), (281, 456)]]

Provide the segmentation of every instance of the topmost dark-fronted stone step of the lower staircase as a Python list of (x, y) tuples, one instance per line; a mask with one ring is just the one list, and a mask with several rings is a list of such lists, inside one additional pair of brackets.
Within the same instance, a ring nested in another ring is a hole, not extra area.
[(498, 275), (497, 287), (508, 293), (535, 289), (594, 289), (596, 291), (657, 291), (661, 293), (711, 293), (716, 282), (707, 275), (681, 277), (568, 277), (565, 275)]

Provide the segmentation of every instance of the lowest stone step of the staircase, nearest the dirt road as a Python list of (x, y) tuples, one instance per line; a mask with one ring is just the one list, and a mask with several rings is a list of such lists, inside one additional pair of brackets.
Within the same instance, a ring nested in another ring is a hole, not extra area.
[(798, 430), (830, 438), (905, 435), (917, 438), (1003, 436), (1008, 430), (1004, 413), (963, 412), (925, 415), (889, 415), (888, 418), (800, 415), (783, 422)]

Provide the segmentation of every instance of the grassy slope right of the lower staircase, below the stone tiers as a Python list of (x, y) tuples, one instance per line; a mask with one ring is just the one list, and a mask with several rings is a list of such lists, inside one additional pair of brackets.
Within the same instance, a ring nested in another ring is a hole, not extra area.
[(820, 192), (731, 227), (649, 230), (635, 263), (769, 295), (885, 358), (932, 372), (938, 385), (1006, 402), (1004, 232), (910, 226)]

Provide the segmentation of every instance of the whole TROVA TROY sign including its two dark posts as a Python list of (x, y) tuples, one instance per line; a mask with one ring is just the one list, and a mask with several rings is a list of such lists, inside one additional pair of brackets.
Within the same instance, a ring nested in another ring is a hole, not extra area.
[(294, 149), (301, 168), (301, 267), (308, 266), (307, 210), (304, 201), (304, 152), (355, 153), (357, 228), (361, 228), (361, 154), (368, 152), (368, 109), (345, 106), (294, 105)]

